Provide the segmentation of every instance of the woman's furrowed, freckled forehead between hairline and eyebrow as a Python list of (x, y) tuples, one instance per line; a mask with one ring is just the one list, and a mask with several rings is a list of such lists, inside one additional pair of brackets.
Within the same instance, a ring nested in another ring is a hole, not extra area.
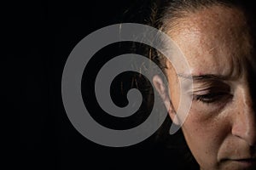
[(250, 51), (244, 14), (212, 6), (189, 14), (170, 31), (194, 74), (234, 74)]

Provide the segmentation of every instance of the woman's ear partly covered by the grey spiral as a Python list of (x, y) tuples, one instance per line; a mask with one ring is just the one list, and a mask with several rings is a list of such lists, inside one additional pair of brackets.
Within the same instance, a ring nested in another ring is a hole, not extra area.
[(166, 109), (168, 111), (169, 116), (171, 116), (172, 122), (175, 124), (179, 124), (177, 120), (176, 111), (173, 109), (171, 99), (169, 98), (168, 87), (164, 84), (161, 77), (158, 75), (153, 77), (154, 88), (160, 94), (160, 98), (163, 100), (164, 104), (166, 105)]

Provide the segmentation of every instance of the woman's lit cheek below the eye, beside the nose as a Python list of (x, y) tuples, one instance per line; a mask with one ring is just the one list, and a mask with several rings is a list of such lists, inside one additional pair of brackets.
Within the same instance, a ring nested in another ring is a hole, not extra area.
[(192, 107), (182, 129), (195, 160), (210, 168), (218, 165), (218, 150), (229, 132), (229, 123), (224, 116), (207, 114)]

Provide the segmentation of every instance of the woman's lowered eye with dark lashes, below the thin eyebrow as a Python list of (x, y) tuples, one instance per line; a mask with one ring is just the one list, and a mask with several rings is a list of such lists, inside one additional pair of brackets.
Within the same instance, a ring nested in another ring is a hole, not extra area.
[(230, 97), (230, 94), (209, 93), (209, 94), (203, 94), (203, 95), (194, 95), (193, 99), (197, 101), (201, 101), (202, 103), (211, 104), (214, 102), (218, 102), (219, 100), (223, 99), (225, 96)]

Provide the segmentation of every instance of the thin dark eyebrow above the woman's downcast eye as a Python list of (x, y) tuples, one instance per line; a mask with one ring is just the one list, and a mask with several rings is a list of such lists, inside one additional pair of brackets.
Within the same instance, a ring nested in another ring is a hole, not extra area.
[(195, 81), (224, 81), (229, 79), (230, 77), (223, 75), (215, 75), (215, 74), (205, 74), (205, 75), (184, 75), (177, 74), (177, 77), (182, 77), (186, 79), (193, 79)]

